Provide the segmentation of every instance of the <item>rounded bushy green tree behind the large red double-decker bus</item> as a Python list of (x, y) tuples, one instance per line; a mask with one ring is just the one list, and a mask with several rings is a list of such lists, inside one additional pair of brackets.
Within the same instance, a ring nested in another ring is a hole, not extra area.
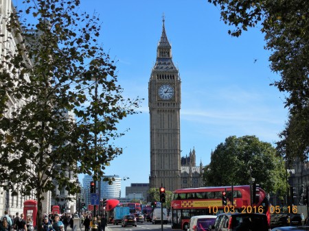
[(262, 189), (274, 193), (286, 189), (285, 172), (284, 160), (270, 143), (255, 136), (229, 136), (211, 154), (203, 180), (206, 186), (244, 185), (251, 175)]

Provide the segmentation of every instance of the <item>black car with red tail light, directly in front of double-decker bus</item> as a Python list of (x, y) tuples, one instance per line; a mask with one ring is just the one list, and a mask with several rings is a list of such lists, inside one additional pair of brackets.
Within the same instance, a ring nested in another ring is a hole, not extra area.
[(216, 218), (211, 231), (269, 231), (267, 216), (260, 213), (222, 213)]

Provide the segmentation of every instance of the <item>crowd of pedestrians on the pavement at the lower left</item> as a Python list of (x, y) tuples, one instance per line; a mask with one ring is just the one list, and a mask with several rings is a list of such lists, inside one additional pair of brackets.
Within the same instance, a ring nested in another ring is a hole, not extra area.
[[(93, 225), (96, 225), (98, 231), (105, 231), (107, 226), (106, 217), (91, 217), (91, 214), (84, 213), (80, 216), (78, 214), (74, 217), (81, 219), (82, 227), (84, 231), (89, 231)], [(73, 216), (69, 213), (58, 214), (45, 214), (43, 216), (42, 228), (44, 231), (67, 231), (67, 228), (73, 229)], [(8, 211), (4, 212), (4, 215), (0, 218), (0, 231), (33, 231), (33, 221), (31, 216), (25, 218), (24, 214), (16, 212), (13, 217), (8, 214)], [(93, 230), (93, 229), (92, 229)]]

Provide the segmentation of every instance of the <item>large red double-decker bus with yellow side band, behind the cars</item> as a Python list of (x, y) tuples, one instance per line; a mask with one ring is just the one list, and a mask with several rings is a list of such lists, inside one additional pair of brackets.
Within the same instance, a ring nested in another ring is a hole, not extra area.
[[(222, 204), (222, 192), (227, 191), (227, 205)], [(190, 218), (197, 215), (216, 215), (220, 212), (249, 212), (270, 214), (268, 197), (264, 190), (258, 188), (255, 203), (251, 203), (249, 185), (233, 186), (233, 203), (231, 186), (203, 187), (195, 189), (178, 189), (172, 193), (172, 229), (186, 230)]]

